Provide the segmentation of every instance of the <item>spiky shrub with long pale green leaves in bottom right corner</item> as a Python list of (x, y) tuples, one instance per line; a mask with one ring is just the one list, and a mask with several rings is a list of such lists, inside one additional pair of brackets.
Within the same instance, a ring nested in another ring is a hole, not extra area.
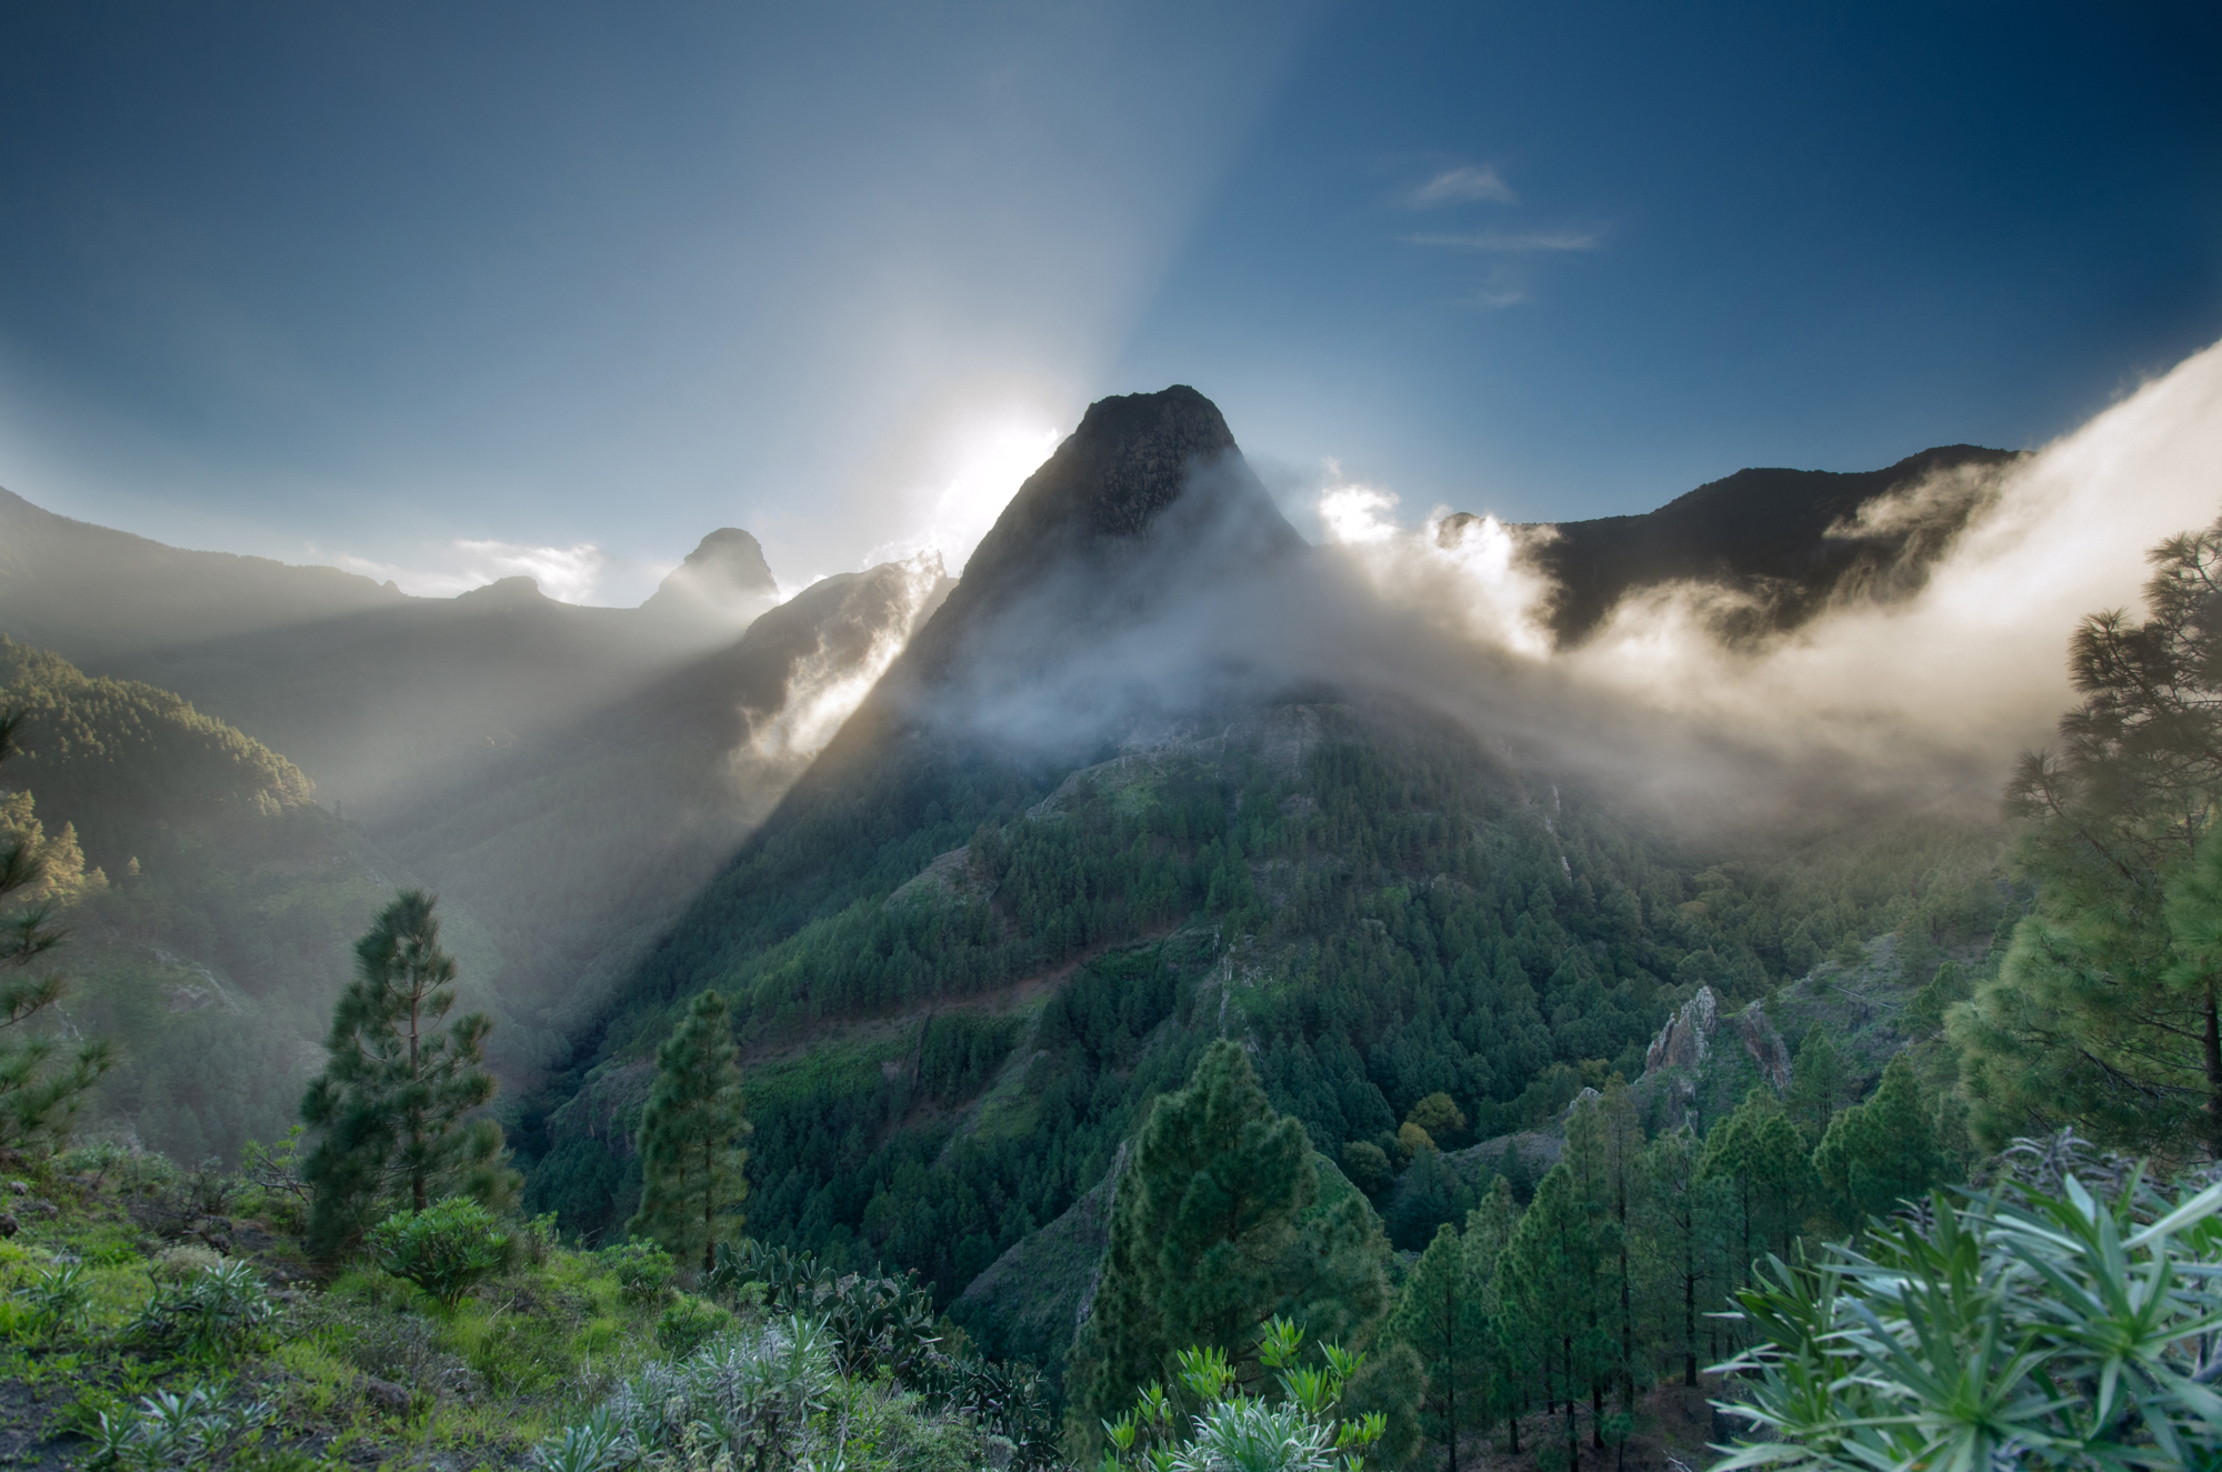
[(1720, 1468), (2193, 1468), (2222, 1456), (2222, 1185), (2004, 1187), (1738, 1294), (1755, 1423)]

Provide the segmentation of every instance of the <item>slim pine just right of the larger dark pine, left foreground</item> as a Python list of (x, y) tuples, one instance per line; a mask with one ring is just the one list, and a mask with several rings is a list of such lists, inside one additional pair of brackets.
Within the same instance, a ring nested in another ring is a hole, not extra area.
[(627, 1232), (653, 1236), (678, 1261), (715, 1267), (718, 1239), (747, 1221), (742, 1170), (751, 1134), (740, 1112), (740, 1050), (718, 992), (702, 992), (655, 1050), (655, 1083), (640, 1114), (640, 1212)]

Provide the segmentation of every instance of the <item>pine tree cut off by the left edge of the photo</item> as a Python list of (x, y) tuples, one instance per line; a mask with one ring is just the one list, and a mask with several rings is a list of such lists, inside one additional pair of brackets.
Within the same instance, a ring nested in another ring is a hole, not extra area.
[[(16, 732), (24, 716), (0, 714), (0, 760), (16, 749)], [(69, 845), (47, 841), (38, 820), (31, 818), (29, 794), (16, 805), (16, 823), (0, 820), (0, 901), (22, 896), (33, 901), (7, 921), (0, 921), (0, 1034), (22, 1027), (47, 1007), (62, 1001), (69, 981), (60, 972), (29, 976), (40, 956), (58, 947), (67, 932), (53, 923), (56, 903), (73, 898), (84, 885), (84, 861), (76, 854), (76, 834), (67, 825), (62, 834)], [(98, 876), (100, 872), (93, 869)], [(71, 889), (76, 881), (76, 889)], [(104, 881), (102, 881), (104, 883)], [(22, 1034), (16, 1034), (18, 1038)], [(0, 1043), (0, 1147), (22, 1150), (38, 1141), (53, 1141), (69, 1130), (84, 1092), (100, 1083), (113, 1065), (113, 1052), (104, 1041), (80, 1043), (67, 1061), (56, 1058), (53, 1038), (24, 1038)]]

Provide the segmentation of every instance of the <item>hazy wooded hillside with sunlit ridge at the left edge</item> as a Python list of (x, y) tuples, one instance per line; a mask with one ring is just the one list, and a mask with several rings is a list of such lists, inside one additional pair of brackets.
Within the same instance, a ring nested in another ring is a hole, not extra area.
[(380, 861), (298, 767), (169, 692), (0, 636), (0, 709), (24, 716), (4, 820), (58, 829), (64, 854), (73, 836), (87, 865), (53, 896), (71, 932), (53, 965), (118, 1065), (80, 1123), (184, 1161), (278, 1138)]

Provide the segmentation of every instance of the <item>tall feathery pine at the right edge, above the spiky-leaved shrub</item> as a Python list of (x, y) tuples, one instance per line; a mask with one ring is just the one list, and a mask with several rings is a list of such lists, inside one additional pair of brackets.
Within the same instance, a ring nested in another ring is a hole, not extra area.
[(2109, 1143), (2222, 1150), (2222, 525), (2149, 554), (2151, 618), (2093, 614), (2060, 752), (2006, 792), (2038, 903), (1953, 1014), (1978, 1134), (2078, 1123)]

